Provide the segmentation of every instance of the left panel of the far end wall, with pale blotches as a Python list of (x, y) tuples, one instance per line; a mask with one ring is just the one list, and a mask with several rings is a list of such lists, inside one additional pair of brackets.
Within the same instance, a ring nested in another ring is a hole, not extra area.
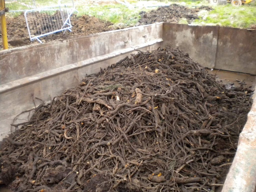
[(214, 68), (218, 29), (218, 26), (164, 23), (163, 46), (179, 47), (204, 67)]

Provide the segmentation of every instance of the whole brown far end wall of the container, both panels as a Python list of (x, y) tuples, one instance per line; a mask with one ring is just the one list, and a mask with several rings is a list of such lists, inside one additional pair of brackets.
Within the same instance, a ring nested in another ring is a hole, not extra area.
[(163, 40), (207, 68), (256, 75), (256, 30), (164, 23)]

